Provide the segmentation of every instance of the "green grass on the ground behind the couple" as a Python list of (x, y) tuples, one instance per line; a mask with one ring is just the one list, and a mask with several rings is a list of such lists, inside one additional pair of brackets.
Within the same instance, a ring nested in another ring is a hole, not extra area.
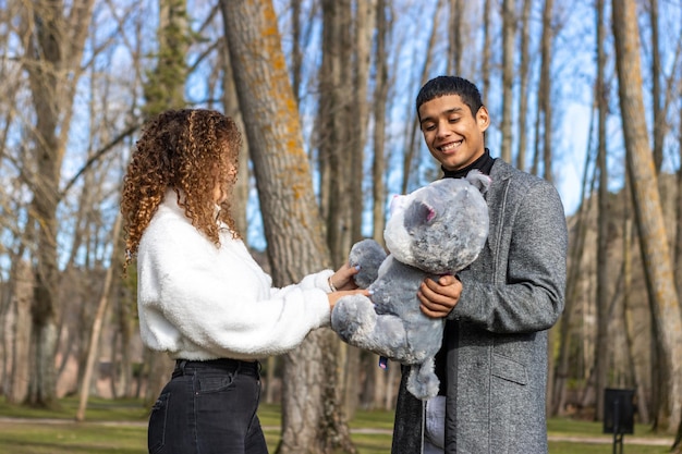
[[(134, 400), (108, 401), (93, 398), (86, 412), (86, 421), (74, 420), (77, 400), (60, 401), (59, 410), (44, 410), (0, 402), (0, 418), (21, 418), (21, 422), (0, 422), (0, 453), (12, 454), (144, 454), (147, 444), (147, 412)], [(261, 405), (258, 410), (270, 452), (279, 442), (281, 415), (276, 405)], [(47, 420), (49, 419), (49, 420)], [(59, 419), (54, 424), (53, 419)], [(360, 454), (387, 454), (391, 445), (392, 412), (358, 410), (350, 422), (353, 442)], [(601, 443), (585, 441), (550, 441), (550, 454), (608, 454), (612, 452), (612, 435), (602, 433), (600, 422), (553, 418), (548, 421), (551, 437), (598, 439)], [(624, 435), (623, 453), (663, 454), (669, 452), (672, 438), (666, 445), (635, 444), (638, 440), (660, 437), (647, 426), (636, 426), (634, 434)]]

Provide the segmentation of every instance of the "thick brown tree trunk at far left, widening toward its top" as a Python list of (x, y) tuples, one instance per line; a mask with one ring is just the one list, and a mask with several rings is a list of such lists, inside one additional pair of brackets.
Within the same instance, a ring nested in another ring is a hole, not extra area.
[[(31, 308), (31, 378), (28, 403), (57, 405), (54, 355), (58, 339), (57, 207), (64, 146), (69, 134), (81, 57), (89, 28), (93, 0), (84, 0), (64, 16), (63, 1), (36, 0), (25, 5), (24, 69), (28, 73), (36, 114), (35, 162), (38, 175), (32, 203), (36, 222), (35, 290)], [(73, 75), (69, 76), (69, 72)]]

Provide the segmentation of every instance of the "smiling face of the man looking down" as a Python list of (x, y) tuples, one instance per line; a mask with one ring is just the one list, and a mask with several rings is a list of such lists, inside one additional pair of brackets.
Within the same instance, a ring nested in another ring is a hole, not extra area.
[(444, 169), (464, 169), (485, 152), (490, 125), (485, 106), (474, 116), (459, 95), (446, 95), (419, 106), (419, 118), (426, 146)]

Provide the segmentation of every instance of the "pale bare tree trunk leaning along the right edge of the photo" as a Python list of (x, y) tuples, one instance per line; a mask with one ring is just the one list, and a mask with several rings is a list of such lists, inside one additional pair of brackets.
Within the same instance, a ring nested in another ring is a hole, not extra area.
[(640, 34), (633, 0), (612, 1), (612, 25), (616, 37), (616, 61), (628, 173), (631, 176), (635, 219), (654, 306), (657, 342), (667, 366), (669, 393), (665, 429), (678, 429), (682, 417), (682, 315), (674, 287), (668, 236), (663, 224), (656, 168), (646, 130), (646, 112), (642, 95)]

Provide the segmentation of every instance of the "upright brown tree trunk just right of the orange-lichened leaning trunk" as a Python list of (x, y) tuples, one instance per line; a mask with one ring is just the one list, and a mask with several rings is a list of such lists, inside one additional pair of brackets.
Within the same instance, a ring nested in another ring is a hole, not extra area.
[[(331, 253), (331, 261), (337, 266), (348, 259), (348, 251), (353, 238), (358, 234), (360, 225), (354, 225), (353, 221), (362, 213), (362, 143), (366, 131), (362, 118), (353, 115), (366, 115), (366, 108), (356, 106), (360, 96), (356, 90), (362, 86), (363, 97), (366, 98), (366, 65), (364, 56), (356, 54), (358, 60), (353, 58), (354, 50), (358, 50), (361, 37), (364, 30), (357, 30), (354, 36), (352, 5), (350, 0), (324, 0), (322, 8), (322, 63), (319, 70), (319, 110), (316, 122), (317, 143), (320, 157), (320, 168), (322, 169), (322, 207), (327, 219), (327, 245)], [(358, 14), (365, 8), (360, 8)], [(362, 20), (361, 20), (362, 21)], [(357, 24), (356, 24), (357, 25)], [(354, 46), (354, 44), (356, 46)], [(364, 45), (363, 45), (364, 47)], [(353, 75), (355, 71), (365, 68), (364, 74)], [(362, 82), (364, 81), (364, 82)], [(352, 95), (351, 95), (352, 94)], [(360, 183), (357, 183), (360, 180)], [(360, 200), (356, 200), (357, 189), (361, 191)], [(340, 197), (340, 194), (346, 196)], [(352, 205), (360, 204), (360, 205)], [(361, 207), (352, 213), (351, 207)], [(355, 232), (357, 230), (357, 233)], [(329, 340), (331, 342), (331, 339)], [(336, 393), (336, 400), (343, 402), (345, 409), (355, 405), (356, 395), (345, 393), (346, 373), (353, 373), (351, 369), (357, 369), (357, 349), (348, 344), (337, 343), (331, 345), (337, 351), (336, 378), (340, 384), (336, 390), (325, 389), (324, 394)], [(356, 370), (354, 371), (356, 373)], [(324, 397), (325, 401), (333, 401), (331, 396)]]

